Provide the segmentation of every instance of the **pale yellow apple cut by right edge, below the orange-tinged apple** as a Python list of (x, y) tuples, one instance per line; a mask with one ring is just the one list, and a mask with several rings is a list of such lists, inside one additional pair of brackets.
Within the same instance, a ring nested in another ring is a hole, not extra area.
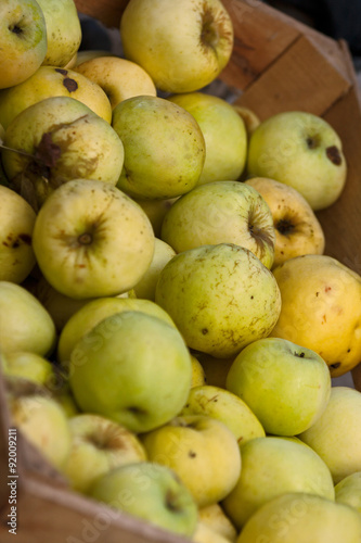
[(333, 387), (321, 417), (298, 437), (323, 458), (335, 484), (361, 471), (361, 392)]

